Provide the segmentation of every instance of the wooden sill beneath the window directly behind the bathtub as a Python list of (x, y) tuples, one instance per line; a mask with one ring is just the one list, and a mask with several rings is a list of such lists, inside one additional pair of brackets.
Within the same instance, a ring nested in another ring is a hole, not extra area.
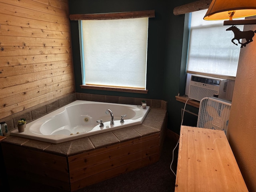
[(95, 85), (80, 85), (82, 89), (94, 89), (105, 91), (118, 91), (118, 92), (130, 92), (130, 93), (143, 93), (147, 94), (148, 90), (135, 89), (135, 88), (120, 88), (120, 87), (108, 87), (108, 86), (95, 86)]

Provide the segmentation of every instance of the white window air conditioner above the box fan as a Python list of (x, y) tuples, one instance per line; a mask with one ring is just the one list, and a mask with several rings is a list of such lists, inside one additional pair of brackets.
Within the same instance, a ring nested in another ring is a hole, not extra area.
[(227, 80), (202, 75), (191, 75), (188, 98), (201, 101), (204, 97), (226, 97)]

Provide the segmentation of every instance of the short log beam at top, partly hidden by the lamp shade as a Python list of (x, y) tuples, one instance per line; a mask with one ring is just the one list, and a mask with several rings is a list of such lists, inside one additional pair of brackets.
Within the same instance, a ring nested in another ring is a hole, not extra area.
[(212, 2), (212, 0), (199, 0), (196, 2), (181, 5), (181, 6), (175, 7), (173, 9), (173, 14), (181, 15), (181, 14), (185, 14), (185, 13), (189, 13), (189, 12), (208, 9), (211, 2)]

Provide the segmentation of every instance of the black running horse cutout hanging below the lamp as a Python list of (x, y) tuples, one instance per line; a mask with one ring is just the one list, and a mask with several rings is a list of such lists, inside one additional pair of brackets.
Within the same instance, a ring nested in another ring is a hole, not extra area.
[[(241, 47), (245, 47), (246, 44), (252, 42), (252, 38), (254, 36), (254, 33), (256, 33), (255, 31), (240, 31), (239, 28), (237, 28), (236, 26), (231, 26), (230, 28), (226, 29), (226, 31), (233, 31), (234, 33), (234, 38), (231, 40), (232, 43), (234, 43), (235, 45), (238, 45), (237, 43), (234, 42), (234, 40), (237, 40), (239, 44), (241, 44)], [(246, 39), (245, 43), (240, 42), (240, 39)]]

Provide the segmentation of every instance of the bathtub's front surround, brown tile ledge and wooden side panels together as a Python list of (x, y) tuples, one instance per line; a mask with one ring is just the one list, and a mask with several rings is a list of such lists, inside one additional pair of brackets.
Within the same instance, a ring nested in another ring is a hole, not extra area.
[(166, 108), (152, 107), (140, 125), (60, 144), (9, 136), (2, 142), (8, 178), (75, 191), (152, 164), (160, 156), (166, 118)]

